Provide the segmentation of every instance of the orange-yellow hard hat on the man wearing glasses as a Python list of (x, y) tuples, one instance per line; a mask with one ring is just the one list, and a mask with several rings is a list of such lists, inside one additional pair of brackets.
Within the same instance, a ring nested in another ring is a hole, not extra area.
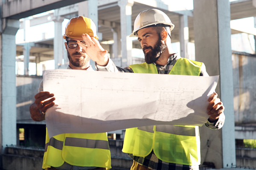
[(98, 40), (96, 32), (96, 25), (90, 18), (83, 16), (73, 17), (67, 23), (63, 38), (65, 40), (67, 37), (82, 38), (82, 34), (88, 34)]

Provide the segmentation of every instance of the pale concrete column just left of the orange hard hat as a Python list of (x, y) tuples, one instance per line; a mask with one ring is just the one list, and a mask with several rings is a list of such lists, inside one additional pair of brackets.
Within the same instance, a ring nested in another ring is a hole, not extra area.
[(54, 39), (53, 39), (53, 51), (54, 51), (54, 62), (55, 62), (55, 69), (59, 68), (62, 64), (63, 59), (63, 35), (62, 33), (62, 22), (64, 17), (58, 15), (59, 9), (54, 10)]

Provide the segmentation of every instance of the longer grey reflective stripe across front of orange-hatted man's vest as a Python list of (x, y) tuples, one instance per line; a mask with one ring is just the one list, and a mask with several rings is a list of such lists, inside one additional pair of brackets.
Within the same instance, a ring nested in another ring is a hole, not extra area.
[(65, 146), (99, 148), (99, 149), (109, 150), (108, 141), (104, 141), (104, 140), (80, 139), (80, 138), (67, 137), (65, 140)]

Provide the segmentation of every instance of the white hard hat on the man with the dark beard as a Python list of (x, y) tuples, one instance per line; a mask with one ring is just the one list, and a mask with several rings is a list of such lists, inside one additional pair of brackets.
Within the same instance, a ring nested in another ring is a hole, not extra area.
[(130, 37), (137, 37), (136, 32), (141, 28), (157, 24), (170, 26), (170, 31), (174, 28), (174, 24), (163, 11), (159, 9), (147, 9), (142, 11), (134, 21), (134, 31), (131, 33)]

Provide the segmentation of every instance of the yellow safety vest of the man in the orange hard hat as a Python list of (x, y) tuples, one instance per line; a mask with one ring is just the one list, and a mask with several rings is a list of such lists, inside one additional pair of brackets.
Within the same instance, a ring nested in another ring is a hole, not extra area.
[(60, 167), (63, 163), (81, 167), (111, 168), (111, 154), (106, 133), (64, 133), (46, 142), (43, 169)]

